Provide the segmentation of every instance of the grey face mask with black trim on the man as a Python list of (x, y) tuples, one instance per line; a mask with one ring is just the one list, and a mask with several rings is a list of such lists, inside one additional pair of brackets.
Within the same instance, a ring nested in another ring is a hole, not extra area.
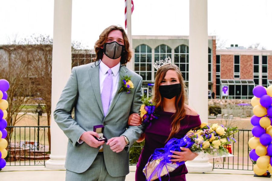
[(108, 58), (118, 59), (124, 52), (124, 45), (120, 45), (117, 42), (105, 43), (103, 51)]

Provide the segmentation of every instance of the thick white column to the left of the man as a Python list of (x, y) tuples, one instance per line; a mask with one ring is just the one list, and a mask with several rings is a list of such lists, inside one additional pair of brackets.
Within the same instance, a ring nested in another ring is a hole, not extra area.
[(45, 162), (50, 169), (65, 169), (67, 137), (52, 120), (60, 94), (71, 74), (71, 26), (72, 0), (54, 1), (53, 60), (52, 60), (52, 106), (51, 106), (51, 154)]

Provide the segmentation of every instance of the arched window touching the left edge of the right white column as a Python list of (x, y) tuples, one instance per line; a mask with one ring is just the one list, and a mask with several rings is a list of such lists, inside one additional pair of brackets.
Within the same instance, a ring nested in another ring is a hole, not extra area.
[(174, 64), (180, 68), (185, 82), (189, 81), (189, 46), (179, 45), (175, 48)]

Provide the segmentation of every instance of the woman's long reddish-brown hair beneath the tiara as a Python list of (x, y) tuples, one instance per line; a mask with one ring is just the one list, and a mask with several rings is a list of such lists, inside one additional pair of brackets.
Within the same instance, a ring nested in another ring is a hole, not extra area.
[(160, 69), (157, 71), (156, 77), (155, 77), (155, 84), (153, 87), (154, 95), (152, 97), (152, 100), (154, 100), (156, 102), (156, 110), (158, 110), (158, 111), (164, 110), (164, 108), (163, 108), (164, 99), (162, 99), (162, 97), (160, 95), (159, 87), (160, 87), (161, 81), (164, 79), (166, 72), (168, 70), (176, 71), (177, 77), (178, 77), (180, 85), (181, 85), (181, 92), (176, 96), (176, 102), (175, 102), (176, 113), (172, 116), (173, 122), (171, 123), (171, 132), (170, 132), (169, 137), (167, 138), (167, 141), (170, 138), (172, 138), (173, 135), (176, 134), (177, 132), (179, 132), (179, 130), (180, 130), (180, 122), (186, 115), (184, 102), (187, 100), (187, 96), (186, 96), (186, 92), (185, 92), (186, 85), (184, 84), (184, 80), (183, 80), (182, 74), (180, 72), (180, 69), (176, 65), (173, 65), (173, 64), (164, 65), (164, 66), (160, 67)]

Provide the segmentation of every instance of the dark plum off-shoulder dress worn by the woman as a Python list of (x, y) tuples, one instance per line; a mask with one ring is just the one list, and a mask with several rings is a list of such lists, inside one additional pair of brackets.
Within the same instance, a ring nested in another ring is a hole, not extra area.
[[(146, 180), (143, 173), (144, 166), (147, 164), (149, 157), (151, 156), (151, 154), (153, 154), (156, 148), (164, 148), (165, 141), (170, 135), (171, 122), (173, 120), (171, 116), (174, 113), (161, 111), (156, 112), (156, 114), (159, 115), (158, 119), (153, 119), (151, 125), (147, 126), (145, 130), (145, 144), (137, 164), (135, 174), (136, 181)], [(173, 138), (182, 138), (190, 129), (198, 127), (200, 124), (201, 121), (199, 119), (199, 115), (186, 115), (181, 121), (180, 131), (175, 134)], [(169, 173), (170, 181), (186, 181), (186, 173), (188, 173), (188, 171), (185, 164), (180, 165), (178, 168), (176, 168), (176, 170)], [(169, 176), (163, 176), (161, 179), (163, 181), (168, 181)]]

